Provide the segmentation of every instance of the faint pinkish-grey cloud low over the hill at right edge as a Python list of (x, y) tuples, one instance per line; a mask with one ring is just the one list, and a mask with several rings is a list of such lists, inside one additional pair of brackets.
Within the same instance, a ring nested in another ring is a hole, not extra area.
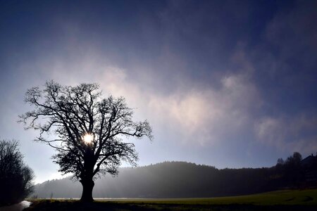
[(317, 115), (262, 117), (254, 124), (261, 143), (282, 151), (311, 153), (317, 151)]

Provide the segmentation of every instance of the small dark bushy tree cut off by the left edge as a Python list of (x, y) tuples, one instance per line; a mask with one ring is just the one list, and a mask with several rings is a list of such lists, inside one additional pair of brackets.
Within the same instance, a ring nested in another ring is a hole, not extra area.
[(18, 151), (18, 141), (0, 141), (0, 205), (18, 203), (32, 193), (33, 178)]

